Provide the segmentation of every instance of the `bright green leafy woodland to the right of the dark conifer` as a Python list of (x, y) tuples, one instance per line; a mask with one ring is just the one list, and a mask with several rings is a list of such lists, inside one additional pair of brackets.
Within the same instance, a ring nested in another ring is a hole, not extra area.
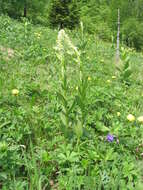
[(137, 50), (143, 47), (143, 0), (83, 0), (81, 20), (90, 33), (96, 33), (101, 39), (116, 40), (117, 14), (120, 9), (121, 40)]

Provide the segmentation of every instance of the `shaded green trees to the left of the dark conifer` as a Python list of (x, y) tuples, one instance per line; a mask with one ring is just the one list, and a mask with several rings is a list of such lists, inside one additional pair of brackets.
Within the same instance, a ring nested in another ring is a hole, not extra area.
[(33, 22), (38, 23), (45, 17), (47, 18), (47, 7), (49, 0), (1, 0), (0, 12), (12, 18), (27, 17)]

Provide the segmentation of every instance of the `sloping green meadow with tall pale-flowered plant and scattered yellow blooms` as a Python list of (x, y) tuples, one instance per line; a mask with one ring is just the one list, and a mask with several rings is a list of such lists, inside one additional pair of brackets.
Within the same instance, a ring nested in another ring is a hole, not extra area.
[(142, 55), (122, 48), (116, 73), (82, 23), (0, 25), (0, 188), (142, 190)]

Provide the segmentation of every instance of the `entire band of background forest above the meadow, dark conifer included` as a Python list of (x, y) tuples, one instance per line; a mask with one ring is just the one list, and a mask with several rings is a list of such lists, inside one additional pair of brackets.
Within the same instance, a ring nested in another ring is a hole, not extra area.
[(28, 18), (42, 26), (74, 28), (82, 21), (85, 30), (100, 39), (116, 41), (117, 10), (120, 39), (136, 50), (143, 49), (143, 0), (1, 0), (0, 14)]

